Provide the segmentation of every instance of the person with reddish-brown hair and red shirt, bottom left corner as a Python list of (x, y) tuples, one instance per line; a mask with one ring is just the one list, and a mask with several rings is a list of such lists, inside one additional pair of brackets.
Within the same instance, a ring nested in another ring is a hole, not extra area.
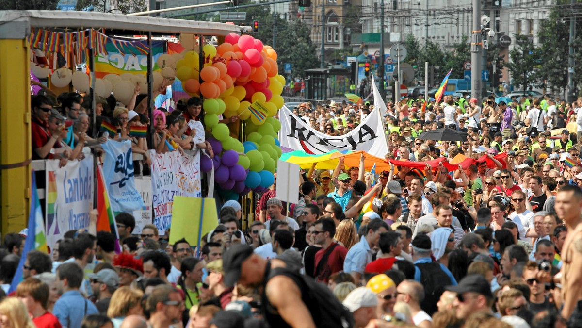
[(59, 319), (47, 311), (48, 295), (48, 285), (37, 278), (27, 278), (16, 287), (16, 297), (26, 305), (36, 327), (61, 328)]

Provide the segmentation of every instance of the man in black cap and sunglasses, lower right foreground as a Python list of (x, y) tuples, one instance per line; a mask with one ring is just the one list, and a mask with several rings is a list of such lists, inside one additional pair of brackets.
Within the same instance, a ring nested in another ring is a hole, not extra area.
[(446, 290), (457, 293), (453, 306), (458, 319), (466, 320), (473, 313), (491, 313), (494, 302), (491, 285), (481, 274), (470, 274), (458, 285), (449, 286)]

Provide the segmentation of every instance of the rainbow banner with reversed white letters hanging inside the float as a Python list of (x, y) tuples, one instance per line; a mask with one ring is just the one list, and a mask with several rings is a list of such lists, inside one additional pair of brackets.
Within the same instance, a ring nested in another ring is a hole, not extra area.
[[(165, 42), (166, 41), (152, 41), (154, 70), (159, 69), (156, 61), (160, 55), (164, 54)], [(132, 43), (134, 45), (134, 50), (125, 51), (125, 54), (120, 54), (119, 50), (115, 45), (113, 45), (113, 41), (108, 38), (107, 45), (105, 46), (107, 48), (107, 55), (95, 55), (95, 77), (102, 78), (109, 73), (115, 73), (117, 75), (123, 73), (141, 73), (145, 75), (147, 73), (147, 54), (133, 54), (140, 53), (138, 48), (147, 49), (147, 40), (133, 41)]]

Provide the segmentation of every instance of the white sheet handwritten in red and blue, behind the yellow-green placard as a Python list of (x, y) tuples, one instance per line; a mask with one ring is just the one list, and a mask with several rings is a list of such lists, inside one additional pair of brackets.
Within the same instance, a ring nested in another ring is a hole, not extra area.
[(202, 197), (200, 188), (200, 152), (183, 156), (178, 151), (151, 154), (151, 191), (154, 224), (163, 234), (172, 221), (174, 196)]

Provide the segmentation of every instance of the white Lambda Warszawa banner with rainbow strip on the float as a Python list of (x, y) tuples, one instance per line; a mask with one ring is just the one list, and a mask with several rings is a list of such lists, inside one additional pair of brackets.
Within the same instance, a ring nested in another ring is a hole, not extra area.
[(50, 248), (69, 230), (89, 226), (93, 209), (93, 156), (81, 161), (68, 161), (59, 167), (59, 160), (46, 165), (47, 245)]

